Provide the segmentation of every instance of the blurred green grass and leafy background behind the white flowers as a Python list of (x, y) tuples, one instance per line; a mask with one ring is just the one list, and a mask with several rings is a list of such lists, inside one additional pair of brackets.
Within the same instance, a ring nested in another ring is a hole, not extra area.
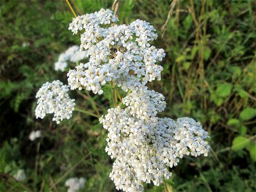
[[(111, 8), (113, 1), (70, 1), (77, 15)], [(147, 20), (166, 58), (162, 80), (148, 86), (168, 104), (159, 116), (189, 116), (209, 132), (208, 157), (184, 157), (166, 180), (172, 191), (255, 191), (256, 1), (179, 1), (161, 38), (169, 1), (120, 1), (120, 23)], [(81, 191), (115, 191), (106, 131), (96, 118), (73, 113), (60, 125), (36, 120), (35, 94), (67, 73), (54, 62), (79, 36), (68, 31), (65, 1), (1, 1), (0, 191), (67, 191), (65, 180), (84, 177)], [(72, 91), (79, 108), (104, 114), (108, 100)], [(33, 130), (42, 137), (30, 141)], [(24, 169), (26, 180), (13, 175)], [(164, 185), (145, 186), (164, 191)]]

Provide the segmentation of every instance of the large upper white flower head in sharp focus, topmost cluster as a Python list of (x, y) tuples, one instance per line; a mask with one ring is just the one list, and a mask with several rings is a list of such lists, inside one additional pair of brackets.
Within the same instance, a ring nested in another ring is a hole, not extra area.
[(110, 10), (79, 16), (70, 23), (74, 34), (81, 31), (80, 49), (88, 51), (88, 63), (68, 72), (70, 88), (102, 93), (101, 86), (112, 81), (127, 92), (141, 88), (148, 81), (161, 79), (163, 49), (149, 42), (157, 38), (148, 22), (135, 20), (127, 25), (110, 26), (117, 19)]

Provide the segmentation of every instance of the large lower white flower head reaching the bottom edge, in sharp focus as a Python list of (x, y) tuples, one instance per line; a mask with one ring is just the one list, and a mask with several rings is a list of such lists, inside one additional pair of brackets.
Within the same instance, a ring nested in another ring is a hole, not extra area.
[[(157, 97), (158, 95), (158, 97)], [(158, 118), (163, 95), (143, 90), (124, 98), (127, 108), (108, 109), (100, 118), (108, 133), (106, 152), (115, 159), (110, 174), (117, 189), (143, 191), (143, 182), (159, 186), (185, 155), (207, 156), (208, 133), (191, 118)]]

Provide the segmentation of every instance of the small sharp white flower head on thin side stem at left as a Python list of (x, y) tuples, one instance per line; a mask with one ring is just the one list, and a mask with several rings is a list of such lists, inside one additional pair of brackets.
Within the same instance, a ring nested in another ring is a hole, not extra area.
[(36, 93), (36, 118), (44, 118), (46, 114), (54, 113), (52, 120), (57, 124), (60, 124), (60, 120), (69, 119), (76, 104), (68, 96), (68, 90), (69, 86), (63, 85), (59, 80), (45, 83)]

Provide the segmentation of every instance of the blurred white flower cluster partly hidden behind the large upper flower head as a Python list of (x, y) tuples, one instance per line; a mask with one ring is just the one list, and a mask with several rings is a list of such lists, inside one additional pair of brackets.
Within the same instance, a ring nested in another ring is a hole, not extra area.
[(58, 61), (54, 63), (54, 70), (65, 71), (65, 68), (68, 66), (67, 61), (76, 63), (88, 57), (87, 51), (79, 51), (79, 46), (73, 45), (69, 47), (67, 51), (60, 54)]

